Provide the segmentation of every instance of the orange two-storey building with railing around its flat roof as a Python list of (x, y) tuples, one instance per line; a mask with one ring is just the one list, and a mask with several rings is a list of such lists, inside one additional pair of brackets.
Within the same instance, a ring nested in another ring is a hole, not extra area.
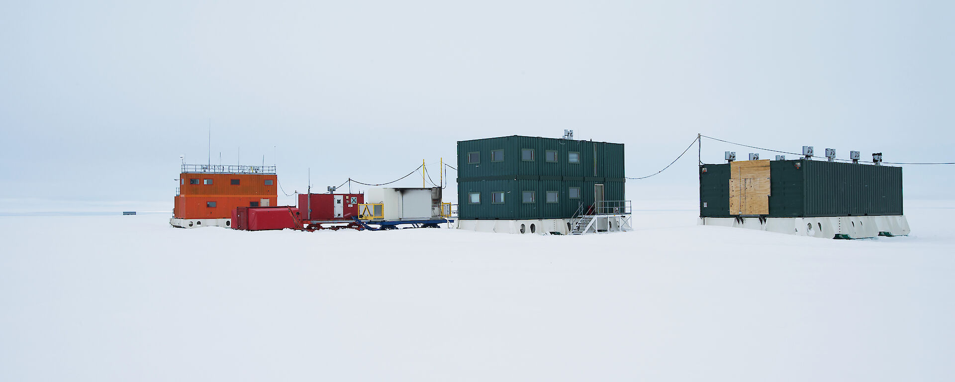
[(275, 166), (183, 164), (173, 218), (182, 228), (231, 225), (236, 207), (266, 207), (278, 202)]

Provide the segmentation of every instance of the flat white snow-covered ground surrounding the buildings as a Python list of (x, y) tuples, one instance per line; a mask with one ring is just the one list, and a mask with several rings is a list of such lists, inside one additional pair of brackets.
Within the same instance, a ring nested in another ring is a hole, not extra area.
[(635, 204), (579, 237), (0, 216), (0, 380), (955, 378), (955, 202), (858, 241)]

